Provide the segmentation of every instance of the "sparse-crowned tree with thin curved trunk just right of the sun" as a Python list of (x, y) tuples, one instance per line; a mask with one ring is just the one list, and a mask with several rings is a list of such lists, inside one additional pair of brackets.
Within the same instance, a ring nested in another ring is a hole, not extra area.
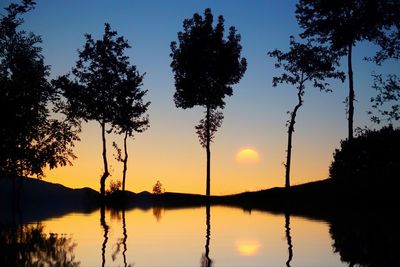
[(294, 132), (294, 124), (296, 123), (296, 115), (299, 108), (303, 105), (303, 97), (305, 92), (305, 84), (311, 82), (313, 87), (320, 91), (331, 91), (329, 84), (325, 81), (327, 78), (340, 78), (344, 80), (344, 74), (336, 71), (338, 65), (338, 56), (330, 53), (330, 51), (321, 46), (312, 46), (310, 42), (307, 44), (297, 43), (293, 36), (290, 37), (290, 51), (283, 53), (280, 50), (268, 52), (268, 55), (276, 58), (275, 68), (282, 68), (283, 74), (276, 76), (272, 80), (275, 87), (279, 83), (287, 83), (294, 85), (297, 89), (298, 102), (290, 114), (288, 126), (288, 145), (286, 156), (286, 174), (285, 187), (290, 187), (290, 166), (292, 156), (292, 135)]

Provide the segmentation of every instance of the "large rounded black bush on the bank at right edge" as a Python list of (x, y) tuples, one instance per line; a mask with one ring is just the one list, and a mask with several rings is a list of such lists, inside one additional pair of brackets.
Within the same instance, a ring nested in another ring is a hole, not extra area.
[(333, 154), (330, 177), (355, 185), (392, 186), (400, 170), (400, 129), (365, 130), (341, 142)]

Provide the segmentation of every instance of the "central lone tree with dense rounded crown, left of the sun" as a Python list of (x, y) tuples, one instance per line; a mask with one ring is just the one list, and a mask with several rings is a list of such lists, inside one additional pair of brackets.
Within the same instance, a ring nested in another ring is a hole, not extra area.
[[(178, 108), (201, 106), (206, 109), (205, 118), (196, 126), (200, 143), (206, 148), (206, 195), (210, 195), (210, 143), (222, 123), (225, 96), (233, 93), (232, 85), (238, 83), (247, 68), (241, 58), (240, 35), (235, 27), (229, 28), (224, 39), (224, 18), (218, 17), (213, 27), (211, 9), (204, 11), (204, 18), (195, 13), (183, 21), (183, 32), (178, 42), (171, 43), (171, 68), (174, 72), (175, 105)], [(214, 127), (214, 128), (213, 128)]]

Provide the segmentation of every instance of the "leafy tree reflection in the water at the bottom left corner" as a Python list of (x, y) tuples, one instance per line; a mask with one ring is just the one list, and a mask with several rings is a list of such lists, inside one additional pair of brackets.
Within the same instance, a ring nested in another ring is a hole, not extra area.
[(76, 243), (36, 225), (0, 225), (0, 266), (79, 266)]

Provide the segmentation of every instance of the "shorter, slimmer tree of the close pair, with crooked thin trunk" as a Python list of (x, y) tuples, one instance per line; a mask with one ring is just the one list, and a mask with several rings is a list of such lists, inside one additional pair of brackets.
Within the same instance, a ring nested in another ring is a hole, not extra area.
[(140, 75), (136, 66), (127, 68), (126, 77), (117, 87), (116, 98), (116, 117), (113, 126), (118, 134), (124, 135), (124, 156), (117, 144), (114, 147), (118, 151), (118, 160), (124, 165), (122, 171), (122, 191), (125, 191), (126, 171), (128, 169), (128, 149), (127, 139), (133, 137), (135, 133), (141, 133), (149, 127), (149, 117), (145, 115), (150, 102), (143, 102), (143, 97), (147, 90), (141, 90), (144, 75)]

